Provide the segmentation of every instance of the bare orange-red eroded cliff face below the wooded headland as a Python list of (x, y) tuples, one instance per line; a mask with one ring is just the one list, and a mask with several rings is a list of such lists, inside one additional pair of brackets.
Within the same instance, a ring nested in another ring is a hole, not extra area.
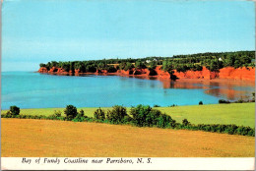
[[(55, 73), (55, 74), (72, 74), (72, 71), (65, 71), (62, 68), (52, 67), (49, 71), (45, 67), (41, 67), (38, 70), (38, 73)], [(81, 71), (75, 70), (75, 75), (82, 74)], [(84, 73), (86, 74), (86, 73)], [(158, 66), (155, 70), (149, 69), (131, 69), (131, 70), (118, 70), (116, 73), (107, 73), (106, 70), (96, 70), (96, 73), (91, 74), (103, 74), (103, 75), (139, 75), (139, 76), (155, 76), (161, 79), (170, 79), (170, 74), (161, 70), (161, 67)], [(173, 75), (178, 79), (229, 79), (229, 80), (244, 80), (244, 81), (255, 81), (255, 68), (237, 68), (226, 67), (221, 69), (219, 72), (211, 72), (206, 67), (203, 67), (202, 71), (186, 71), (186, 72), (177, 72), (173, 70)]]

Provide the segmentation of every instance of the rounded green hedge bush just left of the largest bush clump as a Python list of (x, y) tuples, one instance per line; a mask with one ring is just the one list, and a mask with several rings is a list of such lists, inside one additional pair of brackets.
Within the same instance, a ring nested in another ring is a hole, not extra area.
[(124, 123), (124, 117), (128, 116), (126, 108), (123, 106), (115, 105), (112, 110), (108, 110), (106, 119), (113, 124)]

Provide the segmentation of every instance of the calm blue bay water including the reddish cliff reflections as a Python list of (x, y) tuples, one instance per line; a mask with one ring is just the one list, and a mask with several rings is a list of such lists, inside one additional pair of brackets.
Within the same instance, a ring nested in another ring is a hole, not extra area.
[(54, 76), (2, 72), (1, 108), (107, 107), (115, 104), (160, 106), (218, 103), (250, 96), (254, 85), (170, 82), (118, 76)]

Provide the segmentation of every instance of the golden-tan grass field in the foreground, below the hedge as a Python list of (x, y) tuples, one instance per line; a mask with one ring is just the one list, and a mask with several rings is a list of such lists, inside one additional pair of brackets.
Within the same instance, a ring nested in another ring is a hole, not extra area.
[(1, 119), (2, 157), (254, 157), (254, 138), (99, 123)]

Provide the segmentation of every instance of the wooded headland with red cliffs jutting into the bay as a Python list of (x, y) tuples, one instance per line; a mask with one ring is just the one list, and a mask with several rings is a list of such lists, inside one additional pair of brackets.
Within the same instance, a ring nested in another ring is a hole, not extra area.
[(118, 75), (160, 79), (255, 81), (255, 51), (200, 53), (141, 59), (104, 59), (40, 64), (39, 73)]

